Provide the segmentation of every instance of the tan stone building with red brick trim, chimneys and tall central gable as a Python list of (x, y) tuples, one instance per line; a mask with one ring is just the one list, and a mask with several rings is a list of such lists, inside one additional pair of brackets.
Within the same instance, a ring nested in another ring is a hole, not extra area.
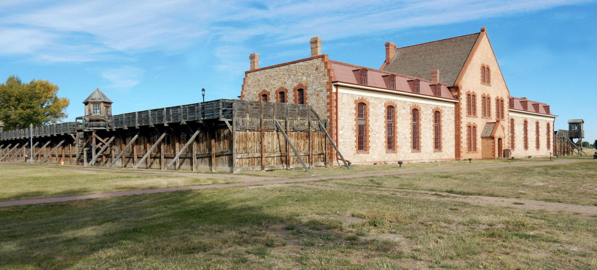
[[(549, 155), (549, 105), (511, 97), (485, 27), (479, 33), (398, 48), (380, 69), (311, 57), (259, 68), (251, 54), (241, 99), (311, 105), (357, 164)], [(328, 148), (332, 149), (332, 148)], [(336, 153), (328, 153), (336, 159)]]

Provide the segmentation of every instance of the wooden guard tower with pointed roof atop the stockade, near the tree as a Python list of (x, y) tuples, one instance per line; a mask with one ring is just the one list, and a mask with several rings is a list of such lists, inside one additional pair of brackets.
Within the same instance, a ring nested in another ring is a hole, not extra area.
[(85, 128), (107, 129), (109, 116), (112, 116), (112, 100), (99, 88), (83, 100), (85, 105), (85, 116), (83, 122)]

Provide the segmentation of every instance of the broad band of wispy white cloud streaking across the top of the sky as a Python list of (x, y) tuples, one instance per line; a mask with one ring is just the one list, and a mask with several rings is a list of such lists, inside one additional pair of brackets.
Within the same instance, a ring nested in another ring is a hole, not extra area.
[(579, 1), (30, 2), (25, 2), (27, 8), (20, 12), (10, 12), (18, 8), (17, 2), (7, 1), (8, 11), (0, 11), (0, 54), (27, 54), (46, 62), (90, 62), (110, 54), (179, 51), (210, 42), (218, 48), (214, 54), (221, 60), (220, 67), (228, 67), (238, 57), (227, 53), (264, 39), (271, 45), (306, 42), (315, 35), (330, 41)]

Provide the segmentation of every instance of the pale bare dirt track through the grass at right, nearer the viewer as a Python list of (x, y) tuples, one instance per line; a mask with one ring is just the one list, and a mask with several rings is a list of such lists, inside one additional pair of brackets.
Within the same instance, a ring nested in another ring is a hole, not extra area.
[[(597, 206), (565, 204), (561, 202), (546, 202), (522, 198), (489, 197), (479, 195), (458, 195), (447, 192), (417, 191), (414, 189), (392, 189), (376, 187), (352, 187), (333, 183), (309, 183), (301, 185), (307, 188), (336, 189), (370, 194), (395, 195), (399, 197), (416, 198), (435, 201), (458, 201), (482, 206), (514, 207), (523, 210), (540, 210), (554, 213), (580, 214), (585, 217), (597, 217)], [(515, 204), (516, 203), (516, 204)]]

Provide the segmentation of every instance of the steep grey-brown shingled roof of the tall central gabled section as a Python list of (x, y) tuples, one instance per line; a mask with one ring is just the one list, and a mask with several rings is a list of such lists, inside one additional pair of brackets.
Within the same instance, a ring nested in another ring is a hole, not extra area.
[(479, 34), (397, 48), (392, 62), (383, 70), (431, 79), (431, 71), (439, 69), (439, 80), (448, 87), (454, 86)]

